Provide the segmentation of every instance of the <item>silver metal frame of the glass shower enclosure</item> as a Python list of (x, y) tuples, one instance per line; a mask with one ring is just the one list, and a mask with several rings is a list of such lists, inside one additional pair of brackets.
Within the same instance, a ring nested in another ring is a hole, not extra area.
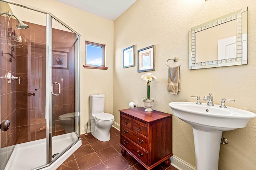
[[(46, 116), (46, 164), (40, 167), (34, 168), (35, 170), (42, 169), (49, 166), (55, 160), (57, 160), (57, 159), (52, 160), (52, 94), (51, 94), (52, 92), (52, 87), (51, 87), (52, 85), (52, 18), (54, 18), (54, 20), (58, 21), (61, 25), (63, 25), (64, 27), (66, 27), (67, 29), (69, 29), (70, 31), (76, 34), (76, 41), (75, 41), (75, 54), (76, 54), (75, 55), (75, 78), (76, 78), (75, 85), (76, 85), (76, 113), (77, 113), (76, 122), (80, 122), (80, 36), (81, 35), (48, 11), (44, 11), (32, 6), (20, 4), (12, 0), (0, 0), (0, 1), (46, 14), (46, 108), (45, 108), (46, 109), (46, 115), (45, 115)], [(80, 123), (78, 123), (76, 127), (77, 127), (76, 135), (78, 136), (78, 141), (79, 141), (80, 140)], [(75, 143), (73, 143), (73, 145), (74, 144)], [(71, 145), (70, 147), (72, 147), (73, 145)], [(70, 149), (70, 147), (66, 148), (63, 152)], [(61, 156), (61, 155), (58, 155), (58, 156)]]

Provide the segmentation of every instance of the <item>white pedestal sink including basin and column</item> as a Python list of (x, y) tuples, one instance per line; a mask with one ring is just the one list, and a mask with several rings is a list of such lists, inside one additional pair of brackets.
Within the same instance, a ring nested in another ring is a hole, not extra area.
[(220, 141), (223, 131), (243, 128), (256, 114), (234, 107), (198, 105), (191, 102), (171, 102), (175, 116), (193, 128), (196, 170), (218, 170)]

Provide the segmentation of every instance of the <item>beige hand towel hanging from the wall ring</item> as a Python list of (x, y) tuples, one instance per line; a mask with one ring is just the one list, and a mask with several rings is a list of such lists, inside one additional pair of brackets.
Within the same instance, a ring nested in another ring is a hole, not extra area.
[(178, 94), (180, 91), (180, 66), (169, 66), (167, 92)]

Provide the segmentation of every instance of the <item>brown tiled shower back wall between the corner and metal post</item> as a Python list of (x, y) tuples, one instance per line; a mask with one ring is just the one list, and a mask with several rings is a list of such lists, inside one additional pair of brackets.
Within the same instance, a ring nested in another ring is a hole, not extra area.
[(46, 138), (46, 27), (26, 24), (20, 30), (23, 47), (16, 49), (16, 144)]

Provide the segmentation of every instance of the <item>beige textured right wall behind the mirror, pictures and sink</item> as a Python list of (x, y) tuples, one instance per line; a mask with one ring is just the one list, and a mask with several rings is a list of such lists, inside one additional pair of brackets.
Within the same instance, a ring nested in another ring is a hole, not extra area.
[[(188, 70), (188, 31), (214, 18), (248, 6), (248, 64), (221, 68)], [(158, 82), (151, 83), (153, 109), (172, 113), (168, 103), (196, 102), (191, 95), (214, 97), (220, 105), (221, 98), (235, 99), (227, 106), (256, 113), (256, 1), (255, 0), (137, 0), (122, 16), (114, 21), (114, 116), (120, 123), (119, 109), (129, 102), (143, 106), (146, 83), (135, 67), (122, 68), (122, 49), (136, 45), (136, 51), (156, 45), (156, 70), (152, 73)], [(178, 57), (181, 65), (181, 91), (178, 95), (167, 93), (166, 60)], [(137, 54), (136, 54), (137, 60)], [(205, 101), (203, 101), (205, 102)], [(168, 128), (168, 127), (166, 127)], [(192, 127), (173, 116), (173, 154), (195, 166)], [(220, 170), (252, 170), (256, 168), (256, 119), (242, 129), (226, 131), (228, 145), (220, 147)]]

